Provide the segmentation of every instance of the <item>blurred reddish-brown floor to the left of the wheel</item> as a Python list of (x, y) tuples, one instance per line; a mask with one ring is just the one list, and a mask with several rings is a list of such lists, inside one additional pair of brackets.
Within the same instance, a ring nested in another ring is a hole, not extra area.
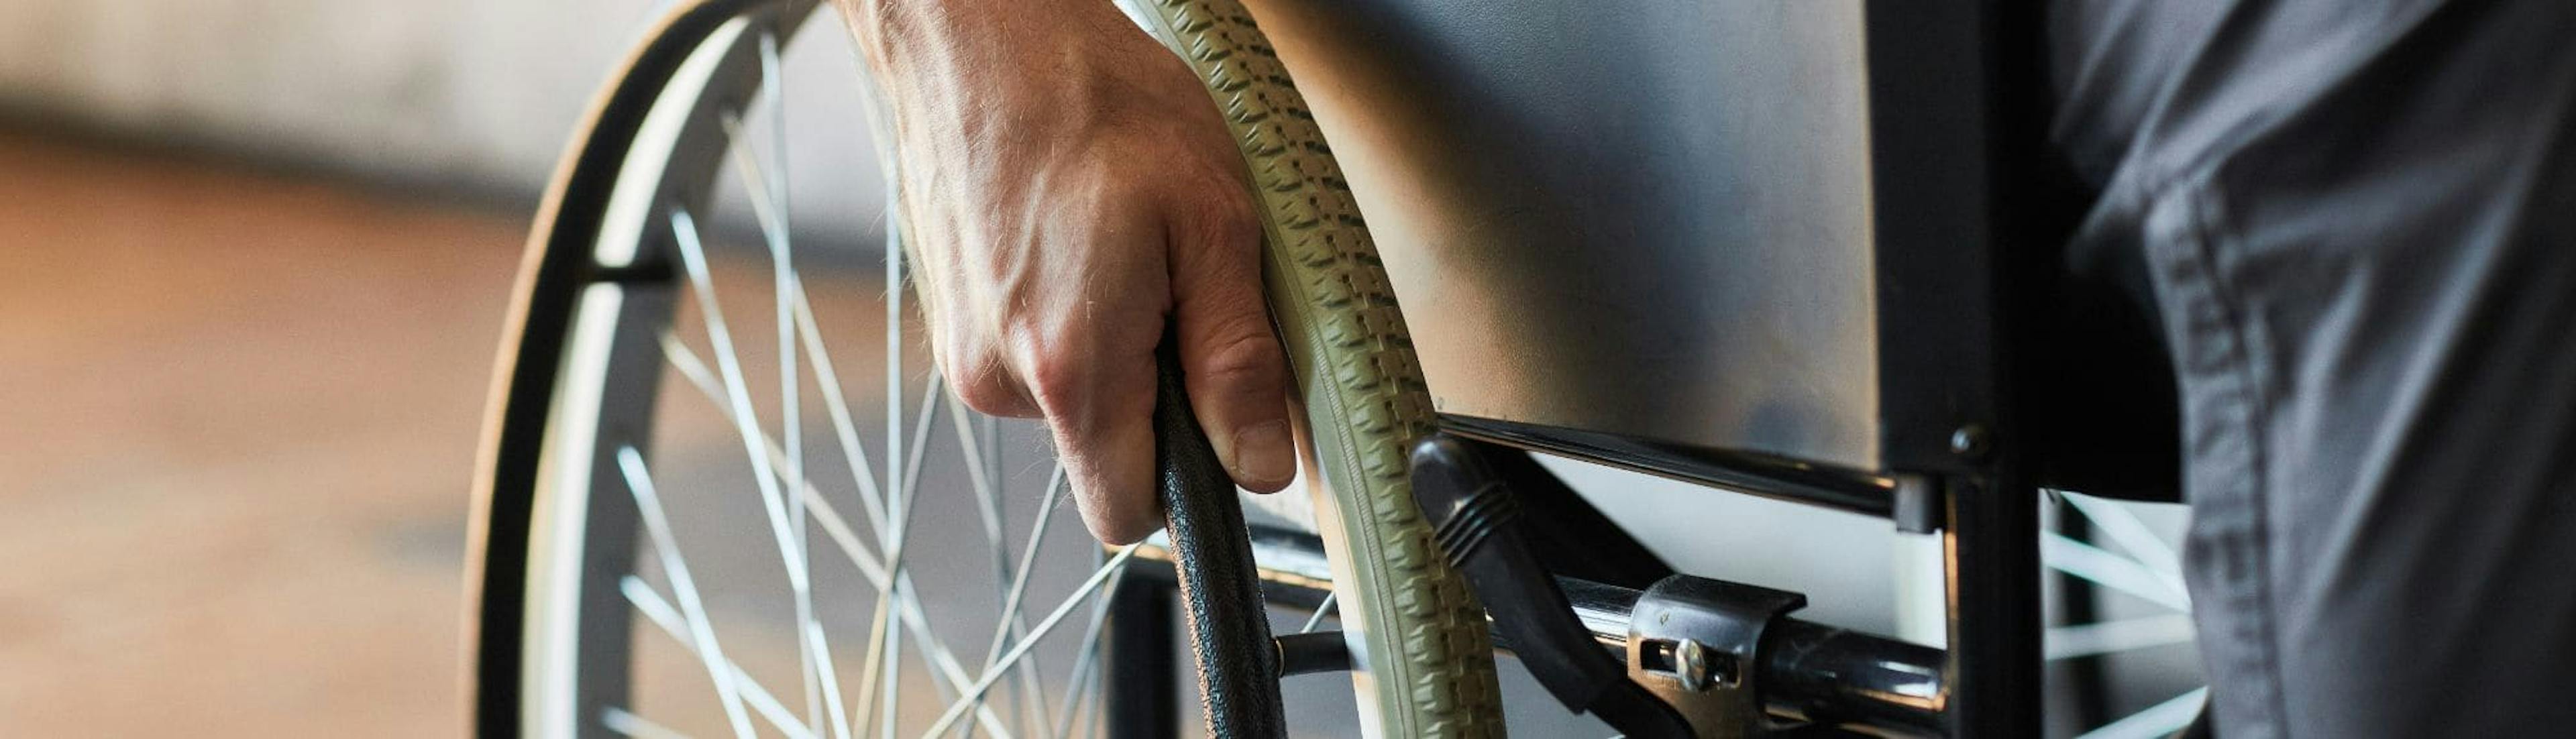
[(523, 229), (0, 136), (0, 736), (456, 736)]

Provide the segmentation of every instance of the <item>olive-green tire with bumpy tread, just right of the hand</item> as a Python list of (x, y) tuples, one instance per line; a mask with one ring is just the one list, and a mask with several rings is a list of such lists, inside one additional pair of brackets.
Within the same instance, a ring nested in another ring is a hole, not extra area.
[(1345, 440), (1340, 453), (1355, 479), (1332, 489), (1350, 566), (1370, 569), (1360, 579), (1376, 582), (1370, 595), (1381, 603), (1370, 615), (1378, 639), (1370, 669), (1401, 685), (1378, 695), (1383, 729), (1502, 736), (1484, 608), (1432, 546), (1412, 497), (1406, 451), (1432, 433), (1430, 389), (1350, 183), (1252, 13), (1236, 0), (1157, 0), (1157, 8), (1216, 98), (1262, 198), (1270, 306), (1283, 314), (1291, 363), (1309, 389), (1309, 420), (1340, 427)]

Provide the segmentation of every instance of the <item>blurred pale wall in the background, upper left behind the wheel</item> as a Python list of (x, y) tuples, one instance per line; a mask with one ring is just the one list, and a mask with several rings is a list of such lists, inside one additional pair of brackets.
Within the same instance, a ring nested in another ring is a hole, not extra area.
[[(670, 0), (10, 0), (0, 121), (533, 206)], [(817, 15), (832, 21), (837, 15)], [(788, 49), (799, 227), (884, 201), (845, 33)], [(734, 221), (747, 211), (734, 203)], [(737, 224), (739, 227), (739, 224)]]

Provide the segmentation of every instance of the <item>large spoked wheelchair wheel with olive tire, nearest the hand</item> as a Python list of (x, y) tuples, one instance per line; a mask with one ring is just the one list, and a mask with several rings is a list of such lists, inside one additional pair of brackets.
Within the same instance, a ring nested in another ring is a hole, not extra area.
[[(1208, 82), (1265, 206), (1360, 724), (1499, 734), (1484, 613), (1406, 487), (1432, 409), (1321, 134), (1231, 0), (1136, 10)], [(479, 734), (1103, 724), (1108, 592), (1133, 548), (1079, 536), (1038, 427), (940, 389), (899, 224), (884, 250), (799, 252), (781, 49), (814, 13), (665, 15), (538, 211), (477, 479)], [(729, 196), (752, 227), (724, 224)]]

